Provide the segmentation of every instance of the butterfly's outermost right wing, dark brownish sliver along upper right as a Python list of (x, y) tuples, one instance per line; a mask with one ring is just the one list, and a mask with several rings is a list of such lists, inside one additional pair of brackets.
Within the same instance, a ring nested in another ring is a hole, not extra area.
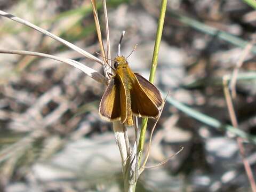
[(140, 74), (134, 73), (134, 75), (137, 77), (142, 89), (148, 95), (149, 99), (155, 103), (158, 109), (161, 109), (163, 105), (163, 98), (159, 90)]

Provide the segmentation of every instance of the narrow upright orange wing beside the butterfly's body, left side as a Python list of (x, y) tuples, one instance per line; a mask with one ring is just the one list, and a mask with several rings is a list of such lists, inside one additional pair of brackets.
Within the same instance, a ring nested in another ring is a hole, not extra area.
[(119, 91), (120, 91), (120, 108), (121, 108), (121, 123), (123, 124), (127, 118), (127, 98), (125, 92), (124, 82), (121, 76), (116, 74), (116, 78), (119, 80)]

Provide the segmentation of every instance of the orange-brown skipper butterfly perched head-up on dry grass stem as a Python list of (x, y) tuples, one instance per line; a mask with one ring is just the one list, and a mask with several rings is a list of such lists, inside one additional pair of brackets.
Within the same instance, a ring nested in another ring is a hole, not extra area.
[(133, 73), (126, 58), (121, 56), (123, 34), (118, 44), (118, 55), (114, 59), (115, 74), (111, 76), (102, 96), (99, 114), (107, 121), (121, 121), (122, 124), (132, 126), (132, 115), (157, 118), (163, 105), (163, 98), (152, 83)]

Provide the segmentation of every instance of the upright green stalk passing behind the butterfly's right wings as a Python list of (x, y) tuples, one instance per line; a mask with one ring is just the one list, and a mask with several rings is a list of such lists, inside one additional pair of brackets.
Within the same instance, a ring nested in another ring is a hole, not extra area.
[[(160, 16), (159, 16), (159, 20), (158, 20), (157, 33), (156, 33), (156, 41), (155, 41), (155, 46), (154, 46), (153, 59), (152, 59), (152, 63), (151, 63), (151, 70), (150, 70), (150, 76), (149, 76), (149, 81), (151, 83), (154, 82), (155, 73), (156, 73), (158, 52), (159, 52), (159, 47), (160, 47), (162, 32), (163, 32), (163, 27), (164, 27), (164, 17), (165, 17), (166, 5), (167, 5), (167, 0), (162, 0), (161, 11), (160, 11)], [(148, 118), (143, 118), (142, 123), (141, 123), (140, 140), (139, 140), (139, 145), (138, 145), (138, 154), (139, 154), (138, 165), (140, 165), (140, 162), (141, 162), (141, 154), (142, 154), (144, 143), (145, 143), (145, 134), (146, 134), (146, 130), (147, 130), (147, 123), (148, 123)]]

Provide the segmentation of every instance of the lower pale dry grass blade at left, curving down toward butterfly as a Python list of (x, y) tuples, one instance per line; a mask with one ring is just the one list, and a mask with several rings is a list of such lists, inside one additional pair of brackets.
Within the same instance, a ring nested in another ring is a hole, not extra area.
[(0, 53), (6, 53), (6, 54), (19, 54), (19, 55), (31, 55), (31, 56), (37, 56), (37, 57), (44, 57), (44, 58), (49, 58), (57, 61), (61, 61), (64, 63), (67, 63), (77, 69), (82, 70), (86, 75), (90, 76), (93, 78), (95, 81), (99, 83), (107, 83), (106, 78), (98, 73), (98, 71), (95, 71), (94, 69), (87, 67), (83, 65), (82, 63), (72, 60), (72, 59), (66, 59), (66, 58), (61, 58), (61, 57), (56, 57), (50, 54), (45, 54), (45, 53), (38, 53), (38, 52), (32, 52), (32, 51), (20, 51), (20, 50), (3, 50), (0, 49)]

